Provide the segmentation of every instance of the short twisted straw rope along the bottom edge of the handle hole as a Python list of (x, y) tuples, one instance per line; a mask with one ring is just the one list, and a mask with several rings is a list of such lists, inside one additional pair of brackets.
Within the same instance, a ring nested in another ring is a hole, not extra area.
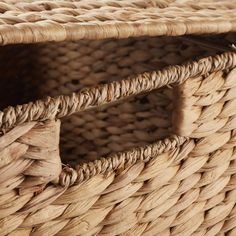
[(133, 166), (139, 161), (146, 163), (161, 153), (166, 153), (179, 147), (187, 140), (188, 138), (185, 137), (173, 136), (146, 147), (133, 148), (94, 162), (77, 165), (76, 170), (65, 167), (60, 175), (59, 183), (62, 186), (70, 186), (75, 182), (81, 183), (98, 174), (109, 174), (119, 168)]

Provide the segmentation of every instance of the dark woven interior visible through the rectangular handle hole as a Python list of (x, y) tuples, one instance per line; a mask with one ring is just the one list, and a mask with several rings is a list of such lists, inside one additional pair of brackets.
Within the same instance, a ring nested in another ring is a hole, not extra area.
[(172, 89), (163, 88), (63, 119), (61, 145), (70, 163), (144, 146), (171, 133)]

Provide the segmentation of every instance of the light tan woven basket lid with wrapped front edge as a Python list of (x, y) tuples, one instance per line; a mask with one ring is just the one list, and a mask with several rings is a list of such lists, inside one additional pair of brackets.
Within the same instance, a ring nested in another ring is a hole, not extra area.
[(236, 0), (3, 0), (0, 44), (236, 31)]

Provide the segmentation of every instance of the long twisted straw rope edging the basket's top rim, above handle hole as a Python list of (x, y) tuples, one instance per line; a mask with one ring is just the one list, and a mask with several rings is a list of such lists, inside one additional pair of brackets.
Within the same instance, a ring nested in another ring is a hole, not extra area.
[(70, 96), (48, 97), (45, 100), (8, 107), (0, 112), (0, 130), (5, 133), (14, 126), (25, 122), (62, 118), (165, 85), (181, 84), (191, 77), (230, 69), (234, 66), (236, 66), (236, 53), (223, 53), (201, 59), (198, 62), (190, 62), (182, 66), (169, 66), (160, 71), (146, 72), (126, 80), (84, 89)]

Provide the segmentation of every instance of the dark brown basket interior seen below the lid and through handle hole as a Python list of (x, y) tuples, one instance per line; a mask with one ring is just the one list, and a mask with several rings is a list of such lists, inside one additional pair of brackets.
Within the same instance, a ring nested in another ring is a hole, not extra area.
[[(0, 108), (70, 94), (213, 54), (215, 50), (176, 37), (2, 46)], [(167, 137), (171, 110), (171, 89), (163, 88), (64, 118), (63, 162), (94, 160)]]

